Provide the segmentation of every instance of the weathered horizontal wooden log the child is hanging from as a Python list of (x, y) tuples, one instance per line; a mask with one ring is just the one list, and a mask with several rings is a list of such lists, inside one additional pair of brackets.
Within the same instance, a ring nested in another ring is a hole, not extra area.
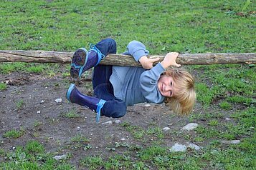
[[(0, 62), (28, 62), (28, 63), (59, 63), (70, 64), (73, 52), (57, 51), (24, 51), (0, 50)], [(164, 56), (159, 57), (162, 61)], [(256, 64), (255, 53), (205, 53), (205, 54), (180, 54), (176, 62), (181, 65), (206, 65), (206, 64)], [(158, 62), (156, 62), (158, 63)], [(109, 54), (100, 64), (118, 66), (141, 66), (132, 56), (123, 54)]]

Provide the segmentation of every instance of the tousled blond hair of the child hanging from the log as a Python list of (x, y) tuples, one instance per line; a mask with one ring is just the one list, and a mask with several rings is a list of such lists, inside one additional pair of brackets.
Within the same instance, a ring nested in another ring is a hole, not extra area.
[(176, 84), (174, 96), (166, 97), (165, 103), (180, 115), (188, 115), (196, 102), (194, 78), (189, 72), (182, 69), (169, 68), (163, 75), (171, 76)]

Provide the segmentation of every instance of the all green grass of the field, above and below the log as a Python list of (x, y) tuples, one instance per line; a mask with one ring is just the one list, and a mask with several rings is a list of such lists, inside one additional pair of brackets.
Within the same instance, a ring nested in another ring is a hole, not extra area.
[[(0, 2), (0, 49), (75, 51), (111, 37), (117, 41), (118, 53), (133, 39), (146, 44), (151, 54), (256, 51), (255, 1)], [(0, 74), (19, 71), (53, 76), (58, 66), (0, 64)], [(80, 164), (89, 169), (255, 169), (256, 66), (226, 64), (186, 69), (196, 78), (197, 108), (204, 111), (195, 110), (184, 119), (204, 119), (207, 123), (196, 128), (193, 139), (190, 134), (184, 138), (197, 143), (208, 139), (202, 151), (170, 153), (169, 149), (152, 145), (139, 152), (139, 161), (88, 156)], [(64, 76), (68, 76), (68, 69)], [(0, 82), (0, 93), (6, 88)], [(219, 121), (227, 115), (233, 121)], [(21, 129), (1, 135), (19, 138), (22, 133)], [(234, 139), (241, 139), (241, 143), (219, 143)], [(54, 161), (38, 141), (27, 141), (14, 152), (0, 148), (0, 156), (8, 158), (0, 163), (0, 169), (75, 169), (69, 159)], [(43, 163), (42, 159), (47, 161)]]

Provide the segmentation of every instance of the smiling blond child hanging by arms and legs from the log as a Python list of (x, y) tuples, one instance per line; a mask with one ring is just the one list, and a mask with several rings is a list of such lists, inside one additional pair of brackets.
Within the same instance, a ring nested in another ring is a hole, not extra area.
[(128, 51), (123, 54), (132, 55), (143, 68), (133, 66), (98, 65), (108, 54), (116, 53), (113, 39), (103, 39), (87, 51), (77, 49), (72, 57), (70, 75), (80, 77), (87, 69), (93, 70), (94, 96), (86, 96), (71, 84), (66, 97), (71, 103), (87, 106), (100, 116), (118, 118), (126, 114), (127, 106), (151, 102), (165, 102), (178, 114), (189, 114), (194, 106), (196, 94), (194, 79), (186, 71), (178, 69), (166, 70), (176, 64), (178, 53), (166, 54), (161, 63), (153, 66), (159, 59), (148, 59), (146, 46), (139, 41), (131, 41)]

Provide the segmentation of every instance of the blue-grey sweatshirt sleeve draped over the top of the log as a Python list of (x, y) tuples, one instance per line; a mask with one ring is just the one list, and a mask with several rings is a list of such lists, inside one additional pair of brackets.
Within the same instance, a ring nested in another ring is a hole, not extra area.
[(142, 44), (140, 41), (133, 40), (128, 46), (127, 50), (123, 54), (128, 54), (133, 56), (133, 58), (138, 62), (141, 59), (141, 56), (146, 56), (149, 54), (149, 51), (146, 50), (146, 46)]

